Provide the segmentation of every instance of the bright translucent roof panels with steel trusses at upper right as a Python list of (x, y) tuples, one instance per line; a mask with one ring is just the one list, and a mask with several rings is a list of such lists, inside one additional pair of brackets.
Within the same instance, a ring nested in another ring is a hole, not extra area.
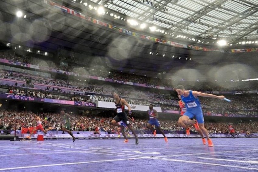
[(91, 1), (130, 16), (139, 25), (155, 25), (175, 34), (226, 38), (228, 42), (256, 39), (258, 35), (257, 0)]

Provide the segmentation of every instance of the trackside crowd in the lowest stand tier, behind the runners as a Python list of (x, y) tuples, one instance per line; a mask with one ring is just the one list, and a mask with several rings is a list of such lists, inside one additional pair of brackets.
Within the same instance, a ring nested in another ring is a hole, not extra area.
[[(73, 131), (95, 131), (96, 126), (99, 131), (114, 132), (116, 128), (110, 125), (110, 120), (112, 117), (100, 117), (98, 115), (85, 115), (85, 114), (73, 114), (72, 112), (67, 112), (75, 120), (71, 120)], [(22, 127), (29, 128), (36, 125), (36, 121), (31, 117), (35, 115), (30, 111), (16, 111), (16, 110), (1, 110), (0, 111), (0, 129), (1, 130), (13, 130), (15, 127), (15, 122), (17, 123), (17, 128), (21, 130)], [(43, 126), (60, 128), (59, 123), (62, 121), (61, 115), (58, 113), (40, 112), (37, 114), (41, 119), (46, 120)], [(137, 130), (148, 130), (146, 128), (148, 119), (138, 119), (134, 118), (133, 125)], [(178, 121), (173, 120), (159, 120), (160, 125), (163, 130), (169, 131), (180, 131), (183, 130), (178, 125)], [(223, 134), (228, 132), (228, 122), (206, 122), (205, 126), (209, 134)], [(233, 124), (236, 133), (258, 133), (257, 128), (258, 122), (236, 122)], [(195, 132), (195, 130), (191, 130)]]

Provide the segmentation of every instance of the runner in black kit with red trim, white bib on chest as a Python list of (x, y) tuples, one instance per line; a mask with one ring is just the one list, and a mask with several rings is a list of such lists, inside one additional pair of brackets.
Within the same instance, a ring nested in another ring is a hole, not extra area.
[(113, 93), (113, 98), (115, 99), (115, 104), (116, 104), (116, 111), (117, 111), (117, 115), (115, 116), (115, 118), (113, 118), (113, 120), (111, 121), (111, 125), (117, 126), (121, 128), (121, 132), (125, 138), (125, 143), (128, 142), (128, 139), (124, 133), (124, 126), (119, 125), (117, 122), (119, 121), (123, 121), (123, 123), (127, 126), (127, 128), (129, 128), (132, 133), (134, 134), (135, 137), (135, 144), (138, 145), (138, 136), (135, 133), (134, 129), (131, 126), (130, 121), (127, 118), (127, 115), (124, 111), (124, 105), (128, 107), (128, 111), (129, 114), (131, 114), (131, 107), (129, 106), (129, 104), (126, 102), (126, 100), (121, 99), (117, 93)]

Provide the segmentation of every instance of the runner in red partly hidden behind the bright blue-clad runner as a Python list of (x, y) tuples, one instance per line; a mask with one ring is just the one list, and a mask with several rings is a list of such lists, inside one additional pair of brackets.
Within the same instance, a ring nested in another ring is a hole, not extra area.
[[(181, 100), (180, 95), (178, 95), (178, 98), (180, 99), (180, 100), (178, 101), (178, 104), (179, 104), (179, 107), (180, 107), (181, 116), (183, 116), (183, 114), (184, 114), (185, 111), (187, 110), (187, 107), (185, 107), (185, 104), (184, 104), (184, 102)], [(178, 119), (178, 124), (179, 124), (181, 127), (183, 127), (183, 128), (186, 129), (186, 134), (187, 134), (187, 135), (190, 135), (190, 127), (187, 127), (187, 126), (183, 123), (182, 117), (179, 117), (179, 119)], [(196, 129), (196, 131), (197, 131), (197, 132), (200, 134), (200, 136), (202, 137), (202, 142), (203, 142), (203, 144), (206, 145), (206, 140), (205, 140), (204, 135), (203, 135), (202, 131), (200, 130), (200, 128), (195, 127), (194, 124), (193, 124), (192, 126), (193, 126), (193, 128)]]

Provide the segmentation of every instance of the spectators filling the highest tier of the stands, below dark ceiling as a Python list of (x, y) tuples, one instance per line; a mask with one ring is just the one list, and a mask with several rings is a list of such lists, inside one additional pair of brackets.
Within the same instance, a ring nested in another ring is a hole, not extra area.
[[(30, 57), (21, 57), (17, 56), (13, 51), (1, 51), (1, 58), (6, 58), (12, 61), (26, 62), (33, 65), (45, 66), (48, 68), (55, 68), (58, 70), (65, 70), (68, 72), (74, 72), (74, 68), (71, 66), (57, 65), (52, 61), (45, 61), (37, 58)], [(33, 60), (32, 60), (33, 59)], [(119, 71), (108, 72), (104, 69), (103, 66), (95, 66), (92, 69), (92, 66), (87, 66), (85, 64), (85, 71), (89, 75), (95, 75), (99, 77), (105, 77), (113, 79), (114, 81), (124, 82), (136, 82), (146, 84), (147, 86), (166, 86), (166, 87), (175, 87), (176, 85), (182, 84), (187, 89), (199, 90), (199, 91), (239, 91), (240, 93), (245, 93), (247, 90), (257, 90), (257, 81), (249, 82), (175, 82), (168, 79), (160, 78), (150, 78), (146, 76), (132, 75)], [(119, 82), (121, 83), (121, 82)]]

